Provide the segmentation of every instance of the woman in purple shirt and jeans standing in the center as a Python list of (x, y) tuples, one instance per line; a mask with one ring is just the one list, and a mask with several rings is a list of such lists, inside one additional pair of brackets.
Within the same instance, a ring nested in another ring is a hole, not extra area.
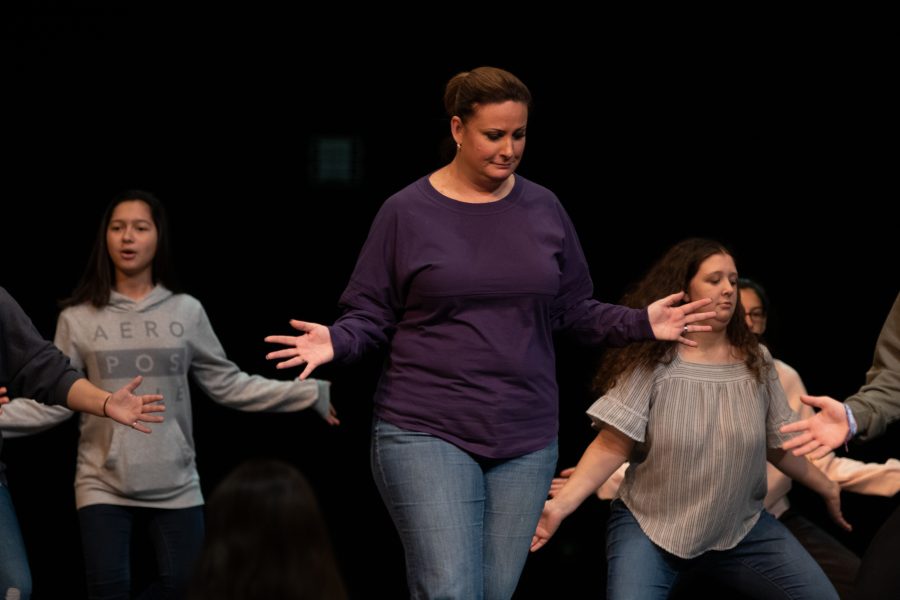
[(588, 344), (693, 344), (700, 300), (645, 309), (592, 299), (556, 196), (515, 175), (531, 94), (511, 73), (453, 77), (444, 103), (456, 156), (390, 197), (331, 327), (269, 353), (300, 378), (389, 345), (375, 392), (372, 471), (406, 555), (413, 598), (509, 598), (556, 465), (552, 336)]

